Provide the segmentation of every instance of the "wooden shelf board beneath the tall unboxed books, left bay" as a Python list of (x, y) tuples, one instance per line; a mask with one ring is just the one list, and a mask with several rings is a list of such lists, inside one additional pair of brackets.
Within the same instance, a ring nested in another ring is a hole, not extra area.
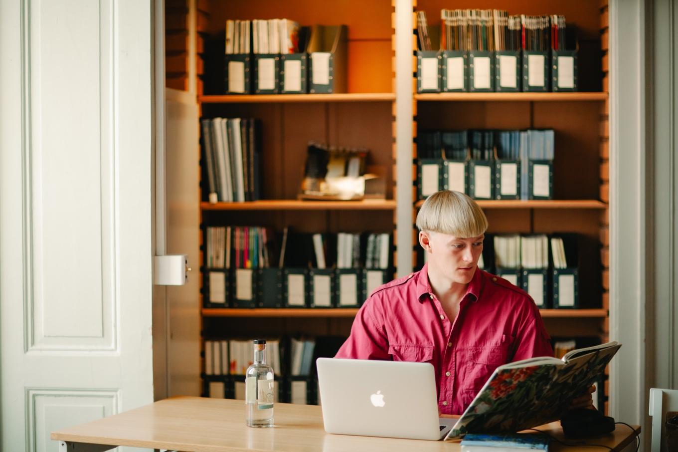
[(201, 202), (201, 210), (395, 210), (395, 200)]

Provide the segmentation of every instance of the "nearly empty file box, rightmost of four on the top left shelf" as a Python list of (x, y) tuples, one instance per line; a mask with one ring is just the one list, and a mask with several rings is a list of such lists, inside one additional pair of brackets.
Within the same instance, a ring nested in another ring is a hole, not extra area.
[(311, 27), (307, 48), (309, 92), (346, 92), (347, 39), (346, 25)]

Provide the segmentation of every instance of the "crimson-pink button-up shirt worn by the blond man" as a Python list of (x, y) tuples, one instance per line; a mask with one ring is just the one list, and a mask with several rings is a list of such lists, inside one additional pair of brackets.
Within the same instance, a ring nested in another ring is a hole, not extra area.
[(539, 309), (523, 290), (477, 269), (450, 320), (426, 269), (376, 289), (336, 358), (431, 362), (439, 411), (462, 414), (498, 366), (553, 356)]

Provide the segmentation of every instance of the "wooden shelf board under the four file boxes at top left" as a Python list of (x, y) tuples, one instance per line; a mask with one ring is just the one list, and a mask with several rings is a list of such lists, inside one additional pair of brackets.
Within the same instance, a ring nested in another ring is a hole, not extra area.
[(391, 92), (344, 93), (344, 94), (235, 94), (218, 96), (198, 96), (203, 104), (258, 104), (289, 102), (392, 102), (395, 94)]

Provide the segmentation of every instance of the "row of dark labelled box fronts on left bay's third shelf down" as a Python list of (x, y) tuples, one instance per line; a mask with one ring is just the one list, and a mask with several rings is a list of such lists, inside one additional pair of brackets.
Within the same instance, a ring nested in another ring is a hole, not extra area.
[(203, 268), (203, 306), (210, 308), (360, 307), (392, 269)]

